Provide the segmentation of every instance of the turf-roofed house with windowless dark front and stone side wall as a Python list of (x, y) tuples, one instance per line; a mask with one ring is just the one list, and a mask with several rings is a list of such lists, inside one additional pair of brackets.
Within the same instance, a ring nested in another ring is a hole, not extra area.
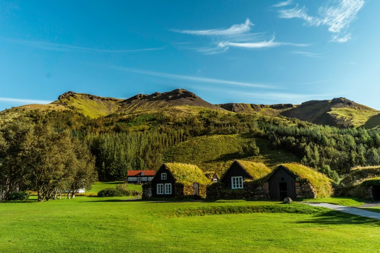
[(332, 194), (331, 182), (326, 175), (297, 163), (279, 165), (267, 181), (273, 200), (324, 198)]

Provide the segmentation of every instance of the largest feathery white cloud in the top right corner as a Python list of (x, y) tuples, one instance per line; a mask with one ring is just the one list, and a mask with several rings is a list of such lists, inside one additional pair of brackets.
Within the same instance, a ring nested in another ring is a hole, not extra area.
[(310, 26), (328, 26), (329, 32), (333, 33), (331, 41), (345, 43), (351, 39), (347, 32), (351, 22), (363, 8), (364, 0), (330, 0), (327, 5), (321, 6), (318, 16), (310, 16), (305, 6), (292, 9), (279, 10), (281, 18), (300, 18)]

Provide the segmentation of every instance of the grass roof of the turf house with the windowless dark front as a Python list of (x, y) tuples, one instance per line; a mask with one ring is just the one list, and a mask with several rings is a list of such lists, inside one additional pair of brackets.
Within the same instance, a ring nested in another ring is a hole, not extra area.
[(319, 173), (312, 168), (306, 167), (298, 163), (282, 164), (291, 173), (301, 179), (306, 179), (315, 190), (318, 198), (330, 197), (332, 194), (331, 179), (325, 174)]

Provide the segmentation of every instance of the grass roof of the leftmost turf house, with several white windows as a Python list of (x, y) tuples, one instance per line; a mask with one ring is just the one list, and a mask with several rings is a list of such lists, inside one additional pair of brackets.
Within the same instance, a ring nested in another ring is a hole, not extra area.
[(197, 165), (186, 163), (165, 163), (165, 167), (173, 175), (177, 183), (190, 185), (193, 183), (209, 184), (210, 180)]

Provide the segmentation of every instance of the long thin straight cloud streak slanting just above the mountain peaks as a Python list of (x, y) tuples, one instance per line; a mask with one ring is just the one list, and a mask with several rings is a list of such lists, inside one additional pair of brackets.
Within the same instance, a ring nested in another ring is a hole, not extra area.
[(108, 67), (113, 68), (113, 69), (117, 69), (117, 70), (133, 72), (133, 73), (138, 73), (138, 74), (143, 74), (143, 75), (149, 75), (149, 76), (154, 76), (154, 77), (160, 77), (160, 78), (165, 78), (165, 79), (182, 79), (182, 80), (190, 80), (190, 81), (196, 81), (196, 82), (202, 82), (202, 83), (219, 83), (219, 84), (229, 84), (229, 85), (234, 85), (234, 86), (257, 87), (257, 88), (265, 88), (265, 89), (276, 89), (277, 88), (277, 87), (274, 87), (272, 85), (261, 84), (261, 83), (251, 83), (251, 82), (224, 80), (224, 79), (183, 76), (183, 75), (168, 74), (168, 73), (155, 72), (155, 71), (146, 71), (146, 70), (126, 68), (126, 67), (118, 67), (118, 66), (108, 66)]

